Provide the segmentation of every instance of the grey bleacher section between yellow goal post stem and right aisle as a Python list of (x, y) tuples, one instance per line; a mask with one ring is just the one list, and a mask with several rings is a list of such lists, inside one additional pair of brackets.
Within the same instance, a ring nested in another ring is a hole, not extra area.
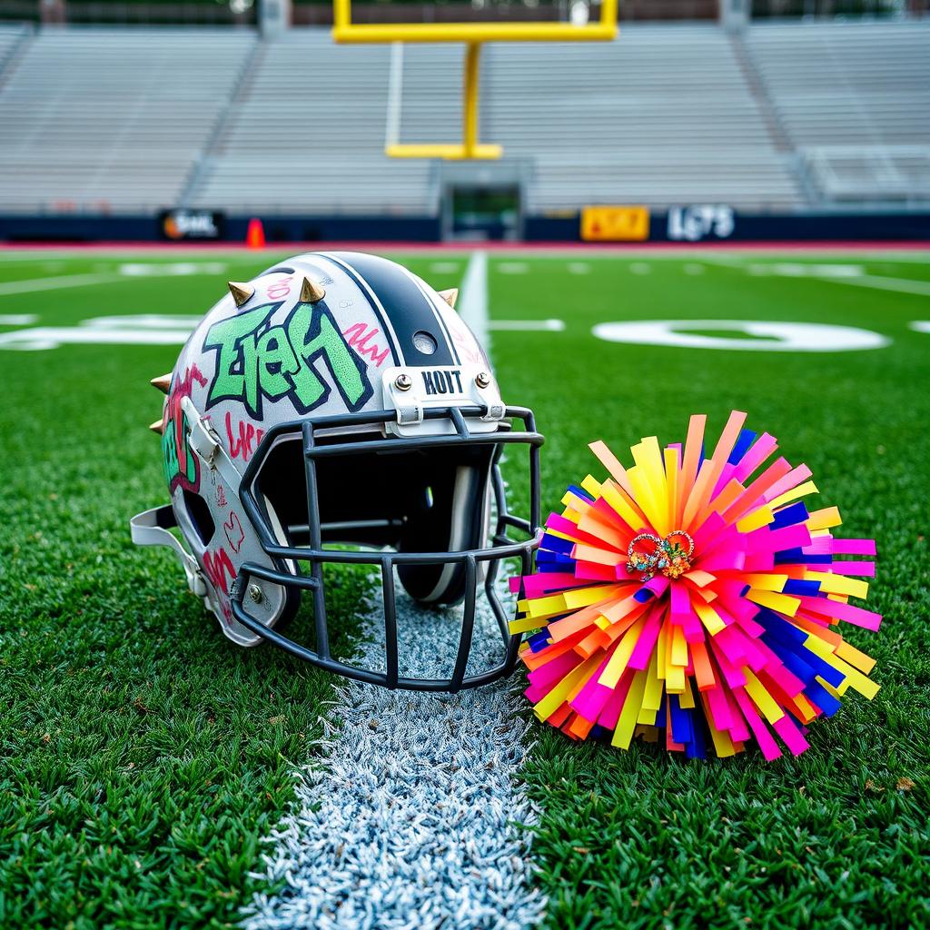
[(625, 26), (591, 46), (495, 46), (488, 136), (532, 158), (531, 212), (584, 203), (801, 203), (715, 26)]

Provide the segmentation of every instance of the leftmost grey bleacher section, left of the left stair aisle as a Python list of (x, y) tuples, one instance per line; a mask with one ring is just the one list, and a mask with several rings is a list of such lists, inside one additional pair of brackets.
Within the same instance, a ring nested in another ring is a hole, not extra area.
[(50, 29), (27, 40), (0, 89), (0, 204), (178, 204), (255, 42), (175, 29)]

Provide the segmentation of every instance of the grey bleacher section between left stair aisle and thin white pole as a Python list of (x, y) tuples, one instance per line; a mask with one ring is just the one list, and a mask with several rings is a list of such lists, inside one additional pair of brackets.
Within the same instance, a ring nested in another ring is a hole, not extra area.
[(429, 162), (384, 154), (389, 46), (335, 46), (324, 30), (262, 43), (193, 206), (281, 213), (434, 213)]

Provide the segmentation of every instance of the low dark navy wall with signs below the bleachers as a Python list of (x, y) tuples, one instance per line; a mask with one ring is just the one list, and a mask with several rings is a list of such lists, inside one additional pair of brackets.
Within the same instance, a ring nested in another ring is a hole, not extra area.
[[(204, 213), (205, 211), (171, 211)], [(213, 229), (184, 233), (166, 228), (166, 215), (147, 216), (21, 216), (0, 215), (0, 242), (244, 242), (253, 217), (206, 213)], [(259, 217), (270, 242), (440, 242), (439, 217)], [(524, 218), (525, 242), (580, 243), (580, 214)], [(678, 207), (654, 212), (638, 242), (832, 242), (930, 241), (930, 211), (807, 214), (739, 213), (720, 205)], [(604, 237), (602, 241), (622, 239)]]

